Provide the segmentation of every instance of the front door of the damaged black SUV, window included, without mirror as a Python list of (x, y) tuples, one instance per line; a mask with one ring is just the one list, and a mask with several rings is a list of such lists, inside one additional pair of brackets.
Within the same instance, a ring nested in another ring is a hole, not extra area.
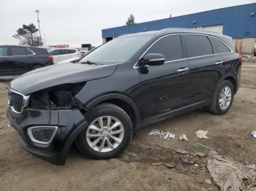
[(138, 69), (144, 119), (172, 112), (189, 103), (189, 63), (183, 59), (183, 50), (181, 36), (170, 35), (159, 39), (145, 53), (165, 55), (165, 63)]

